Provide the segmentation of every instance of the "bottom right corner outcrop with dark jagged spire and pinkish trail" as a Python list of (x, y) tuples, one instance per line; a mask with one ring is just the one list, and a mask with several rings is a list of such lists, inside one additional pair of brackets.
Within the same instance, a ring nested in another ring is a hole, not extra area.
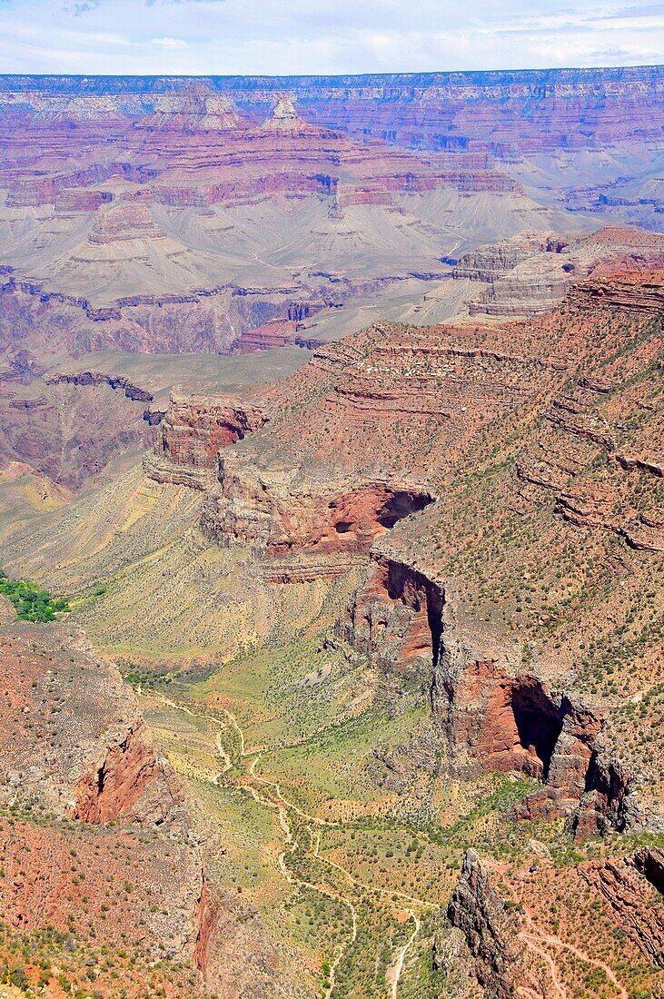
[[(537, 999), (563, 990), (581, 994), (588, 968), (621, 994), (621, 968), (641, 961), (662, 966), (664, 903), (643, 873), (644, 862), (657, 863), (657, 853), (585, 861), (556, 875), (545, 856), (527, 872), (510, 874), (468, 850), (447, 907), (448, 922), (462, 934), (456, 963), (463, 966), (469, 951), (483, 994), (492, 999), (526, 991)], [(569, 893), (564, 905), (551, 905), (560, 891)]]

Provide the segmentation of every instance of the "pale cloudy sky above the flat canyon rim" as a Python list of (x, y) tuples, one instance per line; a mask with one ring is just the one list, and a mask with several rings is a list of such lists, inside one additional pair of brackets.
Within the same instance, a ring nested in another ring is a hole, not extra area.
[(397, 73), (664, 63), (664, 2), (0, 0), (0, 72)]

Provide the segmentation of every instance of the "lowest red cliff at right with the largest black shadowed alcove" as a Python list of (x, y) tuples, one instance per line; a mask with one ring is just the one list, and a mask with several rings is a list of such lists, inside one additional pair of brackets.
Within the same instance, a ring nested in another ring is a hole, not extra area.
[(635, 776), (609, 753), (602, 713), (524, 669), (515, 652), (443, 627), (431, 703), (450, 764), (467, 776), (516, 770), (542, 781), (515, 814), (563, 817), (577, 839), (640, 829)]

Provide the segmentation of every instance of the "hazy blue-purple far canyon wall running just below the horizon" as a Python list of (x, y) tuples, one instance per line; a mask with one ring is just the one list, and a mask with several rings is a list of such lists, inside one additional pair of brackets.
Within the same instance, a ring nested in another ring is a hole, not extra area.
[(108, 133), (120, 131), (123, 123), (127, 128), (132, 119), (152, 130), (174, 124), (189, 130), (237, 127), (236, 109), (242, 108), (253, 119), (271, 120), (269, 128), (292, 129), (299, 125), (295, 100), (305, 117), (327, 128), (462, 155), (490, 149), (513, 160), (525, 151), (657, 139), (663, 86), (657, 66), (213, 77), (198, 86), (178, 76), (88, 77), (83, 82), (9, 76), (3, 110), (25, 117), (26, 106), (32, 106), (42, 125), (88, 122)]

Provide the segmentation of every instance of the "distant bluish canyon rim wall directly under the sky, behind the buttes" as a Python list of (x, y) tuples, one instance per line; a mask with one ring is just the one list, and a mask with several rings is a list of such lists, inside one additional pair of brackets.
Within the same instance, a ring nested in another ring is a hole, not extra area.
[[(209, 77), (206, 85), (231, 98), (246, 114), (263, 118), (286, 92), (307, 109), (308, 117), (328, 128), (369, 134), (415, 148), (467, 150), (492, 148), (503, 155), (523, 149), (587, 146), (588, 141), (657, 137), (652, 95), (663, 87), (661, 68), (522, 70), (370, 74), (352, 77)], [(7, 77), (6, 88), (20, 94), (41, 89), (63, 104), (79, 88), (90, 107), (104, 95), (124, 92), (126, 110), (183, 114), (164, 91), (189, 88), (185, 78), (96, 77), (82, 85), (72, 77)], [(56, 96), (62, 95), (62, 96)], [(70, 99), (71, 100), (71, 99)], [(165, 102), (167, 102), (165, 104)], [(500, 129), (486, 128), (500, 108)], [(70, 114), (75, 109), (70, 109)], [(186, 110), (202, 116), (203, 102), (190, 98)], [(224, 105), (225, 125), (228, 105)], [(583, 124), (581, 125), (581, 122)], [(197, 122), (198, 123), (198, 122)], [(159, 124), (159, 122), (154, 122)], [(117, 127), (117, 124), (116, 124)], [(590, 132), (590, 136), (588, 136)]]

